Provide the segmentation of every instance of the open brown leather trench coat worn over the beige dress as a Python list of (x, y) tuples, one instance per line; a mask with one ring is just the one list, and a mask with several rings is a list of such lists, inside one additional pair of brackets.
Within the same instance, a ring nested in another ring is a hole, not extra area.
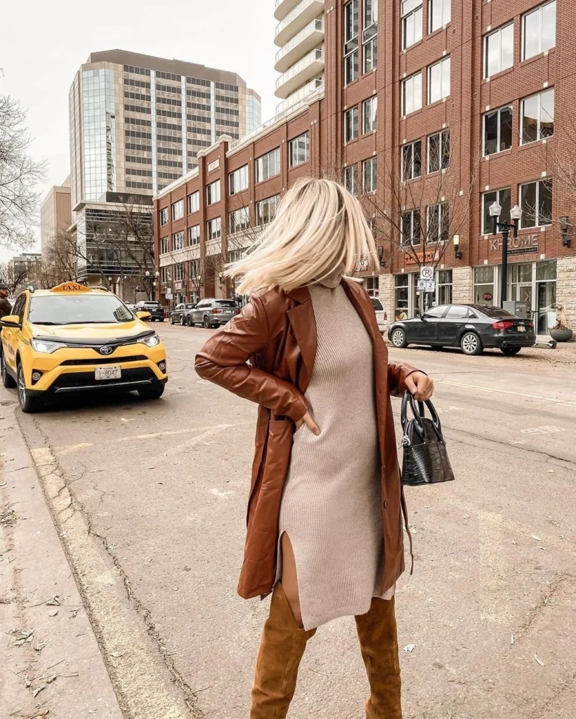
[[(374, 347), (375, 391), (380, 441), (385, 562), (383, 591), (404, 569), (403, 498), (390, 395), (406, 390), (409, 365), (388, 362), (372, 301), (361, 285), (342, 280)], [(285, 293), (277, 288), (252, 296), (250, 304), (217, 331), (196, 355), (196, 372), (260, 405), (247, 538), (238, 593), (244, 599), (273, 589), (280, 501), (290, 463), (294, 423), (308, 409), (304, 397), (316, 356), (316, 322), (308, 288)], [(250, 360), (250, 362), (249, 362)], [(354, 398), (350, 398), (353, 402)], [(321, 428), (320, 428), (321, 429)]]

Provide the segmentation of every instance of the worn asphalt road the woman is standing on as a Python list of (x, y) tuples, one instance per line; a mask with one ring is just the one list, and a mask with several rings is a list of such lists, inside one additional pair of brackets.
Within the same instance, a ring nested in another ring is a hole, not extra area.
[[(32, 450), (52, 449), (122, 572), (134, 633), (145, 621), (150, 651), (170, 657), (166, 682), (198, 716), (242, 719), (268, 610), (235, 593), (255, 407), (195, 374), (209, 331), (158, 329), (170, 372), (162, 400), (68, 398), (19, 422)], [(576, 719), (575, 365), (390, 356), (436, 380), (457, 477), (407, 493), (416, 564), (397, 588), (405, 719)], [(366, 693), (343, 618), (309, 644), (290, 717), (361, 719)]]

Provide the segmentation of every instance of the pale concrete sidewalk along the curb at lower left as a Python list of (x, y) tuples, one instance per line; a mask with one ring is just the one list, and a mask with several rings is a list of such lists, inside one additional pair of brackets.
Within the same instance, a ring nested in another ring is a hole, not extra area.
[(1, 719), (122, 719), (14, 417), (17, 405), (1, 404)]

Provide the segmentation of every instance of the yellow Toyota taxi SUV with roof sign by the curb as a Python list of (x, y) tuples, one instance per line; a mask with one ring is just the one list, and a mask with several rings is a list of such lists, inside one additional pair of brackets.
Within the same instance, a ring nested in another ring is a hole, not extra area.
[(45, 399), (83, 390), (137, 390), (162, 396), (166, 350), (144, 319), (113, 293), (66, 282), (26, 290), (1, 319), (4, 387), (17, 387), (22, 411)]

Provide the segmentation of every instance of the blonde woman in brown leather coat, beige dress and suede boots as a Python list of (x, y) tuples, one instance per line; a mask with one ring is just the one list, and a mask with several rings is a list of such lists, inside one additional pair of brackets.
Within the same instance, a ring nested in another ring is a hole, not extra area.
[(390, 394), (426, 400), (433, 383), (388, 362), (369, 296), (344, 277), (360, 257), (378, 262), (360, 203), (299, 180), (228, 270), (252, 301), (196, 357), (201, 377), (260, 405), (238, 592), (273, 595), (251, 719), (285, 718), (306, 642), (344, 615), (370, 681), (367, 718), (402, 716), (394, 587), (407, 518)]

